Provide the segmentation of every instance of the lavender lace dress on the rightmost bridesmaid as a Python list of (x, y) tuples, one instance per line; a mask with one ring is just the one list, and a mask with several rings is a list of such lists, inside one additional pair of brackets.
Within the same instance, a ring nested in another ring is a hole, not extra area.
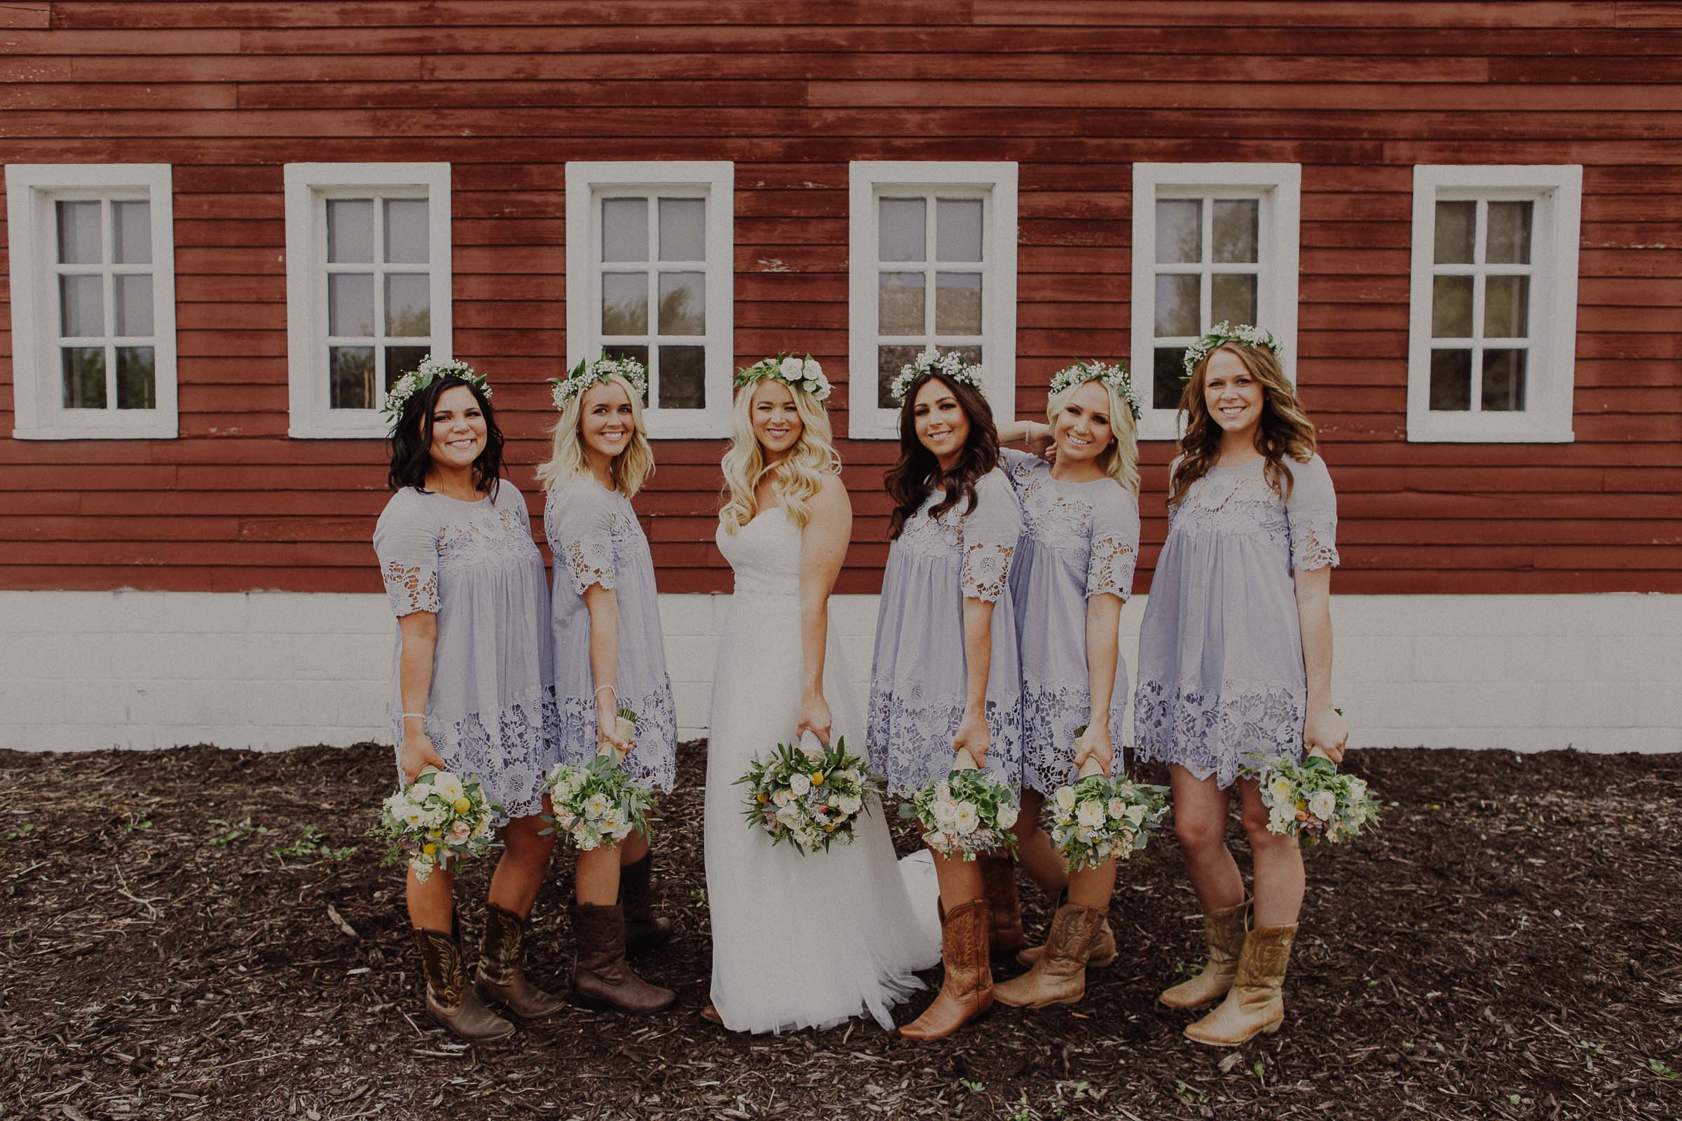
[(1214, 467), (1169, 511), (1139, 630), (1134, 750), (1223, 788), (1256, 755), (1302, 755), (1309, 687), (1295, 571), (1337, 563), (1325, 461), (1287, 464), (1288, 499), (1262, 466)]

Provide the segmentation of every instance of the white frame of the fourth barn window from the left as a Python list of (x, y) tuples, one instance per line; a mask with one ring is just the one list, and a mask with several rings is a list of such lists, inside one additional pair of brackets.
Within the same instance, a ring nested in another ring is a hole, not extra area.
[(982, 393), (994, 420), (1016, 418), (1016, 163), (854, 160), (848, 165), (848, 437), (854, 440), (900, 435), (900, 410), (876, 407), (876, 274), (905, 262), (876, 261), (876, 198), (950, 188), (984, 200), (982, 261), (964, 271), (982, 274)]

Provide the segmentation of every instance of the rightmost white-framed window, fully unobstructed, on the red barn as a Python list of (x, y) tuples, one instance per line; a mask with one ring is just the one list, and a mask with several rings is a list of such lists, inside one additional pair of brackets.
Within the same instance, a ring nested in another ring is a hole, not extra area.
[(1581, 166), (1416, 166), (1410, 440), (1571, 440)]

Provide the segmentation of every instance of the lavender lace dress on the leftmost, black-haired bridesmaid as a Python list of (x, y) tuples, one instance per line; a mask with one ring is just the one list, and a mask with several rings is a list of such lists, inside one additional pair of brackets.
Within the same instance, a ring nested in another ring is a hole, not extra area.
[[(385, 595), (400, 618), (437, 613), (426, 733), (449, 768), (478, 775), (484, 793), (510, 817), (542, 808), (543, 776), (560, 731), (550, 681), (548, 587), (532, 516), (511, 482), (463, 503), (405, 487), (373, 529)], [(392, 650), (390, 718), (399, 755), (404, 699), (399, 667), (404, 634)]]

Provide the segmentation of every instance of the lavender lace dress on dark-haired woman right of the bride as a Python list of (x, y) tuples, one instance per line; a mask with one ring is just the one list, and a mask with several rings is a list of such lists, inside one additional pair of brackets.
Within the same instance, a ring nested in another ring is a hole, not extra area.
[(939, 518), (935, 491), (888, 550), (870, 671), (866, 743), (890, 793), (913, 793), (952, 770), (952, 736), (964, 719), (964, 600), (994, 603), (987, 671), (986, 768), (1021, 782), (1021, 677), (1009, 568), (1021, 511), (1004, 471), (976, 481), (976, 508), (959, 501)]

